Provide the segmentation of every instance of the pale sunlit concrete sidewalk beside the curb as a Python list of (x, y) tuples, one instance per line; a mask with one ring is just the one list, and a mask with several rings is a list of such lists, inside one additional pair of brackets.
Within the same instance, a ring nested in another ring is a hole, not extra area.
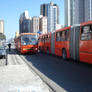
[(18, 55), (16, 57), (20, 64), (14, 64), (14, 57), (15, 55), (9, 54), (8, 65), (0, 67), (0, 92), (51, 92)]

